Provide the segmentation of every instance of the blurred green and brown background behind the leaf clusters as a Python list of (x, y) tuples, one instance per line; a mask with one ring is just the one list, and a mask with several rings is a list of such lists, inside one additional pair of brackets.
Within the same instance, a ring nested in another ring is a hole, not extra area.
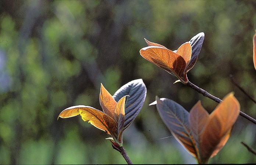
[[(124, 147), (136, 164), (193, 164), (196, 160), (171, 136), (155, 96), (186, 110), (205, 98), (139, 54), (143, 38), (175, 50), (199, 32), (205, 40), (188, 79), (223, 98), (234, 91), (241, 110), (256, 118), (252, 36), (256, 1), (1, 0), (0, 164), (125, 164), (105, 132), (81, 117), (60, 118), (67, 107), (101, 110), (100, 83), (114, 94), (142, 78), (147, 97), (124, 132)], [(231, 137), (210, 163), (256, 163), (241, 141), (256, 149), (256, 126), (238, 117)]]

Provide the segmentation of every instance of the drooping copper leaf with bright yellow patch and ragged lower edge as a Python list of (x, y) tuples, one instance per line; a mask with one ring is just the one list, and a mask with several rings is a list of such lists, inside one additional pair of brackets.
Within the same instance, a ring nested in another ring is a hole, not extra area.
[(79, 114), (81, 115), (83, 121), (89, 121), (90, 124), (105, 131), (109, 135), (113, 135), (117, 129), (117, 124), (113, 118), (102, 111), (89, 106), (79, 105), (69, 107), (63, 110), (58, 117), (68, 118)]

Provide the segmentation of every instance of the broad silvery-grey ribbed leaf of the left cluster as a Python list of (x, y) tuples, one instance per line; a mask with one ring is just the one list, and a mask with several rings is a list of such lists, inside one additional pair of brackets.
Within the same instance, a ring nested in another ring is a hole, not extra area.
[(118, 89), (113, 98), (118, 101), (123, 96), (129, 95), (125, 103), (125, 122), (124, 129), (134, 121), (135, 117), (141, 110), (146, 98), (147, 89), (142, 79), (133, 80)]

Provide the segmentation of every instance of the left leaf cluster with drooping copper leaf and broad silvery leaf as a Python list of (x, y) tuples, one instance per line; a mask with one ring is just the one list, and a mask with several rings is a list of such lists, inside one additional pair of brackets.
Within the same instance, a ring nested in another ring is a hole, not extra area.
[(122, 132), (138, 115), (145, 101), (146, 92), (142, 79), (125, 84), (113, 96), (101, 84), (100, 106), (103, 112), (90, 106), (79, 105), (63, 110), (58, 117), (81, 115), (83, 121), (89, 121), (96, 128), (105, 131), (111, 136), (107, 139), (116, 147), (121, 147)]

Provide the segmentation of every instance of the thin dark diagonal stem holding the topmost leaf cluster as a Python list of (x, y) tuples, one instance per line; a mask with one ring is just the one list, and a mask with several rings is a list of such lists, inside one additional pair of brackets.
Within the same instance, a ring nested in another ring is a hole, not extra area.
[[(202, 88), (199, 88), (198, 86), (196, 86), (195, 84), (192, 84), (190, 81), (188, 81), (187, 85), (189, 87), (191, 87), (192, 89), (194, 89), (195, 91), (199, 92), (200, 94), (206, 96), (207, 98), (209, 99), (212, 99), (214, 100), (215, 102), (217, 103), (220, 103), (222, 102), (222, 100), (220, 98), (217, 98), (211, 94), (209, 94), (207, 91), (205, 91), (204, 89)], [(247, 120), (253, 122), (254, 124), (256, 124), (256, 120), (252, 117), (250, 117), (249, 115), (243, 113), (242, 111), (240, 111), (239, 115), (241, 115), (242, 117), (246, 118)]]

